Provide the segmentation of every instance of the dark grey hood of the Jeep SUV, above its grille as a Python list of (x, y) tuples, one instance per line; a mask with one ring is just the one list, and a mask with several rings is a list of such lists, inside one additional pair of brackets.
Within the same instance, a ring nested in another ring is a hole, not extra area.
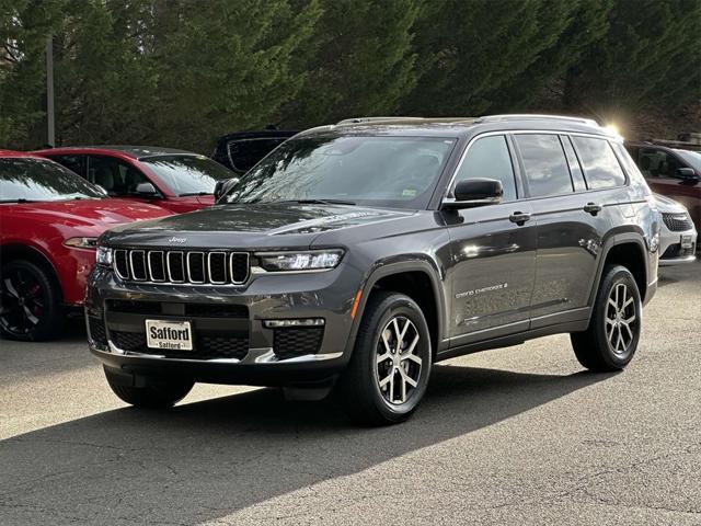
[(323, 232), (412, 216), (410, 210), (290, 203), (216, 205), (112, 229), (107, 244), (193, 248), (309, 247)]

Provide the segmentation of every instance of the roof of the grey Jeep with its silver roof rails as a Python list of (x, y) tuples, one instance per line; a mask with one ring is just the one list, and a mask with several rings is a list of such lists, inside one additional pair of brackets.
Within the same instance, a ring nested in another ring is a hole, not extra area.
[(464, 137), (479, 132), (536, 129), (616, 136), (595, 121), (564, 115), (486, 115), (481, 117), (357, 117), (302, 132), (304, 135), (404, 135)]

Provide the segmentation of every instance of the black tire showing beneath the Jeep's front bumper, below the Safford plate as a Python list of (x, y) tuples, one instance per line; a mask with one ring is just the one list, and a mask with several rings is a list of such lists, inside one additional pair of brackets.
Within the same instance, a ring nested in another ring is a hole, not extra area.
[(105, 377), (112, 391), (123, 401), (136, 408), (146, 409), (172, 408), (185, 398), (195, 385), (192, 380), (158, 378), (146, 387), (127, 386), (122, 376), (111, 373), (106, 367)]

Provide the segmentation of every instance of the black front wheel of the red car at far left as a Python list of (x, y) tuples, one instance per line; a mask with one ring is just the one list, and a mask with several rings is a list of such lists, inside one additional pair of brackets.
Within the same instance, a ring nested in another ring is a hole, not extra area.
[(0, 331), (3, 336), (48, 340), (58, 332), (60, 319), (60, 293), (46, 271), (24, 260), (2, 266)]

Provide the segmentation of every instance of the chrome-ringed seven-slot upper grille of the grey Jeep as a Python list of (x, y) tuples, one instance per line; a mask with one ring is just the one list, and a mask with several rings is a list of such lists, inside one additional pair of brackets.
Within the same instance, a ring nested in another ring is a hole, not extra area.
[(249, 278), (249, 254), (115, 249), (114, 270), (122, 279), (134, 282), (241, 284)]

